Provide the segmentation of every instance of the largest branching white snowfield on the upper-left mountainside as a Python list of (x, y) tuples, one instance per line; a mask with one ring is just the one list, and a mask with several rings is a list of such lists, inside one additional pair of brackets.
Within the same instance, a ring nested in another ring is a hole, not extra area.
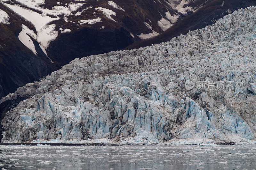
[[(79, 9), (84, 5), (84, 4), (76, 4), (71, 2), (70, 4), (66, 4), (67, 6), (54, 6), (52, 7), (52, 9), (49, 10), (39, 6), (40, 4), (44, 4), (44, 0), (14, 0), (14, 1), (26, 7), (41, 11), (43, 13), (43, 14), (40, 14), (35, 11), (31, 11), (27, 8), (21, 7), (19, 5), (6, 4), (2, 2), (2, 4), (4, 4), (6, 7), (10, 8), (12, 11), (17, 13), (19, 16), (25, 18), (35, 26), (36, 32), (37, 32), (35, 36), (35, 40), (40, 44), (40, 47), (42, 48), (45, 55), (47, 55), (45, 49), (47, 49), (50, 42), (55, 40), (58, 36), (58, 32), (55, 31), (55, 24), (48, 25), (48, 23), (50, 23), (51, 21), (60, 19), (59, 17), (51, 18), (47, 15), (58, 16), (58, 15), (64, 14), (63, 19), (66, 22), (68, 22), (68, 19), (66, 16), (72, 15), (71, 13), (72, 11), (76, 11), (77, 9)], [(0, 13), (0, 16), (1, 16), (1, 13)], [(62, 33), (67, 33), (69, 31), (70, 30), (66, 30), (66, 31), (64, 30)], [(35, 53), (35, 50), (32, 44), (28, 43), (30, 41), (27, 42), (27, 40), (29, 40), (28, 39), (29, 36), (26, 35), (25, 30), (23, 30), (20, 33), (20, 37), (22, 37), (20, 38), (22, 40), (21, 42)]]

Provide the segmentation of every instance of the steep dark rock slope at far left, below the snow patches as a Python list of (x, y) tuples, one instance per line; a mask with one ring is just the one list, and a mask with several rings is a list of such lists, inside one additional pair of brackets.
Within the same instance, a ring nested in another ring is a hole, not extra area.
[[(12, 15), (0, 3), (0, 9), (7, 11), (8, 22), (0, 23), (0, 99), (28, 82), (34, 82), (47, 76), (56, 67), (55, 63), (44, 54), (39, 44), (32, 38), (35, 55), (19, 40), (22, 30), (22, 18)], [(2, 11), (3, 11), (2, 10)], [(26, 25), (31, 25), (25, 22)]]

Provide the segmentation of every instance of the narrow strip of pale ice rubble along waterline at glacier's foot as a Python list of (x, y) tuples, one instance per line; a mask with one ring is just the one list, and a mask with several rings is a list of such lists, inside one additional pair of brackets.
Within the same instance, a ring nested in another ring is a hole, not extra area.
[[(21, 141), (2, 141), (2, 144), (24, 144)], [(237, 141), (224, 142), (220, 140), (213, 139), (171, 139), (169, 141), (158, 141), (154, 140), (146, 140), (141, 137), (127, 137), (122, 139), (88, 139), (88, 140), (57, 140), (57, 139), (37, 139), (33, 140), (30, 143), (26, 144), (37, 144), (38, 146), (43, 146), (43, 144), (88, 144), (88, 145), (200, 145), (200, 146), (218, 146), (218, 145), (256, 145), (256, 141), (250, 139), (238, 139)]]

